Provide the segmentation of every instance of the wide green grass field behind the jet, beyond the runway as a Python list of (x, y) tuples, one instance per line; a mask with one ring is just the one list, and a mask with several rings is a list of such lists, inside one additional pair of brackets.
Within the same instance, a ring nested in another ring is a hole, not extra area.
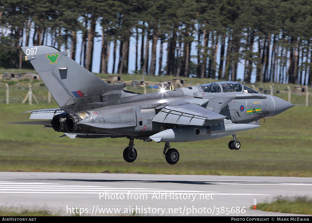
[[(1, 70), (0, 70), (1, 71)], [(17, 73), (17, 72), (16, 72)], [(100, 75), (107, 78), (108, 75)], [(140, 79), (140, 75), (123, 75), (124, 80)], [(172, 77), (171, 77), (172, 78)], [(146, 80), (148, 77), (145, 78)], [(149, 77), (150, 81), (170, 80), (170, 77)], [(188, 78), (194, 85), (213, 80)], [(23, 172), (86, 172), (86, 173), (160, 173), (211, 174), (251, 176), (312, 177), (311, 144), (312, 117), (310, 106), (297, 106), (278, 116), (261, 120), (261, 127), (237, 134), (240, 150), (228, 149), (231, 136), (216, 140), (171, 143), (178, 149), (180, 160), (169, 165), (163, 158), (164, 143), (135, 140), (138, 158), (133, 163), (123, 159), (129, 140), (58, 138), (51, 128), (12, 125), (5, 122), (28, 121), (31, 111), (58, 107), (52, 98), (47, 104), (48, 91), (36, 83), (33, 87), (39, 104), (21, 104), (28, 92), (27, 84), (10, 86), (10, 104), (6, 105), (6, 88), (0, 84), (0, 171)], [(256, 84), (268, 88), (269, 83)], [(286, 85), (275, 85), (281, 93), (275, 96), (287, 100)], [(143, 91), (141, 87), (127, 87)], [(151, 88), (147, 88), (152, 92)], [(291, 95), (293, 104), (305, 104), (304, 95)], [(32, 100), (33, 103), (34, 100)]]

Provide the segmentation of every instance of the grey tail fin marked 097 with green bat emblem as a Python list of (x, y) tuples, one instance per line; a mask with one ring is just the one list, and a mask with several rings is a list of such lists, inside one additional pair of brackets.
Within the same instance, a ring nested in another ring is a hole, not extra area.
[(68, 51), (51, 46), (28, 46), (22, 50), (25, 60), (30, 60), (60, 107), (88, 104), (82, 109), (86, 110), (105, 106), (109, 95), (114, 100), (125, 87), (124, 83), (115, 86), (104, 83), (68, 57)]

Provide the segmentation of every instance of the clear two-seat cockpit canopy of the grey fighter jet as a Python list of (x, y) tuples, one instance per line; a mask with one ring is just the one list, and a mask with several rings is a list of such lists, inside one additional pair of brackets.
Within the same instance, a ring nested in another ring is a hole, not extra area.
[(227, 93), (227, 92), (245, 92), (245, 93), (253, 93), (259, 94), (255, 90), (246, 87), (238, 82), (232, 81), (221, 81), (221, 82), (214, 82), (208, 83), (203, 85), (198, 85), (204, 92), (207, 93)]

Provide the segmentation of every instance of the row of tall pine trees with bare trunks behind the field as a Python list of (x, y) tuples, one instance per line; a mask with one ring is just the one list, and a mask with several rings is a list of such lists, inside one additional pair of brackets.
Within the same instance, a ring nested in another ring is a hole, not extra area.
[(101, 73), (109, 56), (114, 74), (128, 73), (135, 56), (135, 71), (148, 75), (157, 75), (158, 61), (158, 74), (235, 81), (242, 63), (246, 82), (256, 75), (311, 85), (312, 0), (1, 0), (0, 32), (3, 68), (27, 66), (21, 46), (51, 45), (70, 49), (91, 70), (100, 36)]

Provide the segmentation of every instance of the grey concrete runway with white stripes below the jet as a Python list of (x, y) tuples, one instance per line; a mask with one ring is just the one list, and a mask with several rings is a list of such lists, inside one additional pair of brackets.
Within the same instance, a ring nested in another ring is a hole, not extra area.
[(296, 216), (250, 209), (254, 198), (261, 203), (285, 196), (312, 197), (312, 178), (0, 173), (2, 210), (58, 215)]

